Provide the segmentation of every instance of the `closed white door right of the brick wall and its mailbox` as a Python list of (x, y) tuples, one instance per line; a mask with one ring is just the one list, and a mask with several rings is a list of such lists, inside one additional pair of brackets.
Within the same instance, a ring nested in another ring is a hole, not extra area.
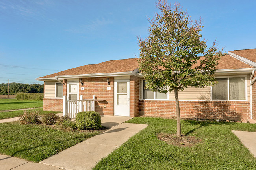
[(115, 116), (130, 116), (130, 80), (115, 80)]

